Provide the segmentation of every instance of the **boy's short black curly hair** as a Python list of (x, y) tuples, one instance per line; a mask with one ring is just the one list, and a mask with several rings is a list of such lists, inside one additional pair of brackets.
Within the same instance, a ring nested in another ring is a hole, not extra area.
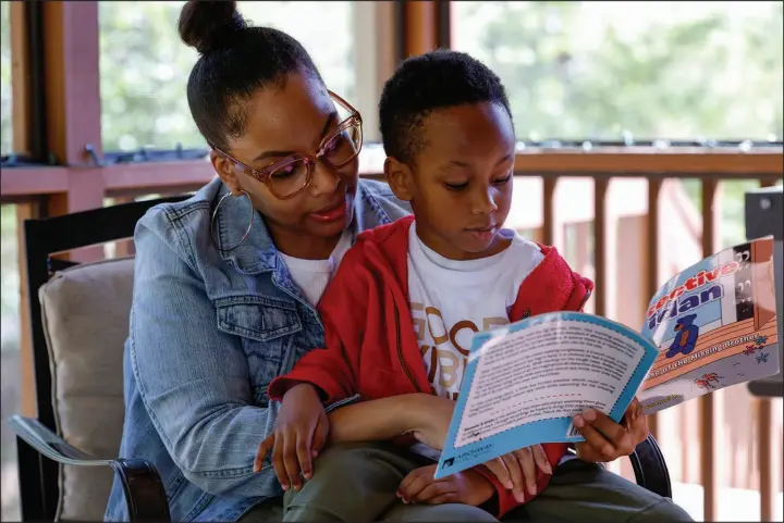
[(405, 60), (381, 92), (379, 121), (384, 152), (413, 163), (425, 146), (420, 127), (428, 114), (482, 102), (503, 105), (512, 117), (501, 79), (479, 60), (450, 50)]

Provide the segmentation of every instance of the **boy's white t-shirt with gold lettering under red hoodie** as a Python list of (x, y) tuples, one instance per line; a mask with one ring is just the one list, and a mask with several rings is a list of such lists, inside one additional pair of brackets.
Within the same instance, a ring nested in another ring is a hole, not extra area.
[(523, 281), (544, 259), (539, 247), (511, 229), (498, 254), (450, 260), (427, 247), (413, 223), (408, 233), (408, 301), (428, 381), (456, 400), (471, 334), (509, 324)]

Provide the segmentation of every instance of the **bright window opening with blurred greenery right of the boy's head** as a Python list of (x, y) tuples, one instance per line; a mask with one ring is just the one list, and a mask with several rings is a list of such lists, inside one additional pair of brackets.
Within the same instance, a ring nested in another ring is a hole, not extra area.
[(520, 139), (782, 139), (782, 2), (452, 2)]

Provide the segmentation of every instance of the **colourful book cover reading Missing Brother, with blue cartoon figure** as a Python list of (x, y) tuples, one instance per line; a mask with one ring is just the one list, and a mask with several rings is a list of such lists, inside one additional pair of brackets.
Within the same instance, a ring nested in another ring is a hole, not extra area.
[(773, 237), (731, 247), (667, 282), (642, 336), (659, 347), (638, 398), (646, 413), (779, 372)]

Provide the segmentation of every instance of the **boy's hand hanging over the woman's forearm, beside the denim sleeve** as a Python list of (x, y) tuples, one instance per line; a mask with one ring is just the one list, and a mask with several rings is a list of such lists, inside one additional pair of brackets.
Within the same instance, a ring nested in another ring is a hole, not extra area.
[(283, 396), (274, 432), (259, 446), (254, 471), (261, 470), (272, 449), (272, 466), (283, 490), (290, 486), (299, 490), (299, 472), (310, 480), (313, 459), (327, 443), (328, 433), (329, 420), (316, 388), (309, 384), (292, 387)]

